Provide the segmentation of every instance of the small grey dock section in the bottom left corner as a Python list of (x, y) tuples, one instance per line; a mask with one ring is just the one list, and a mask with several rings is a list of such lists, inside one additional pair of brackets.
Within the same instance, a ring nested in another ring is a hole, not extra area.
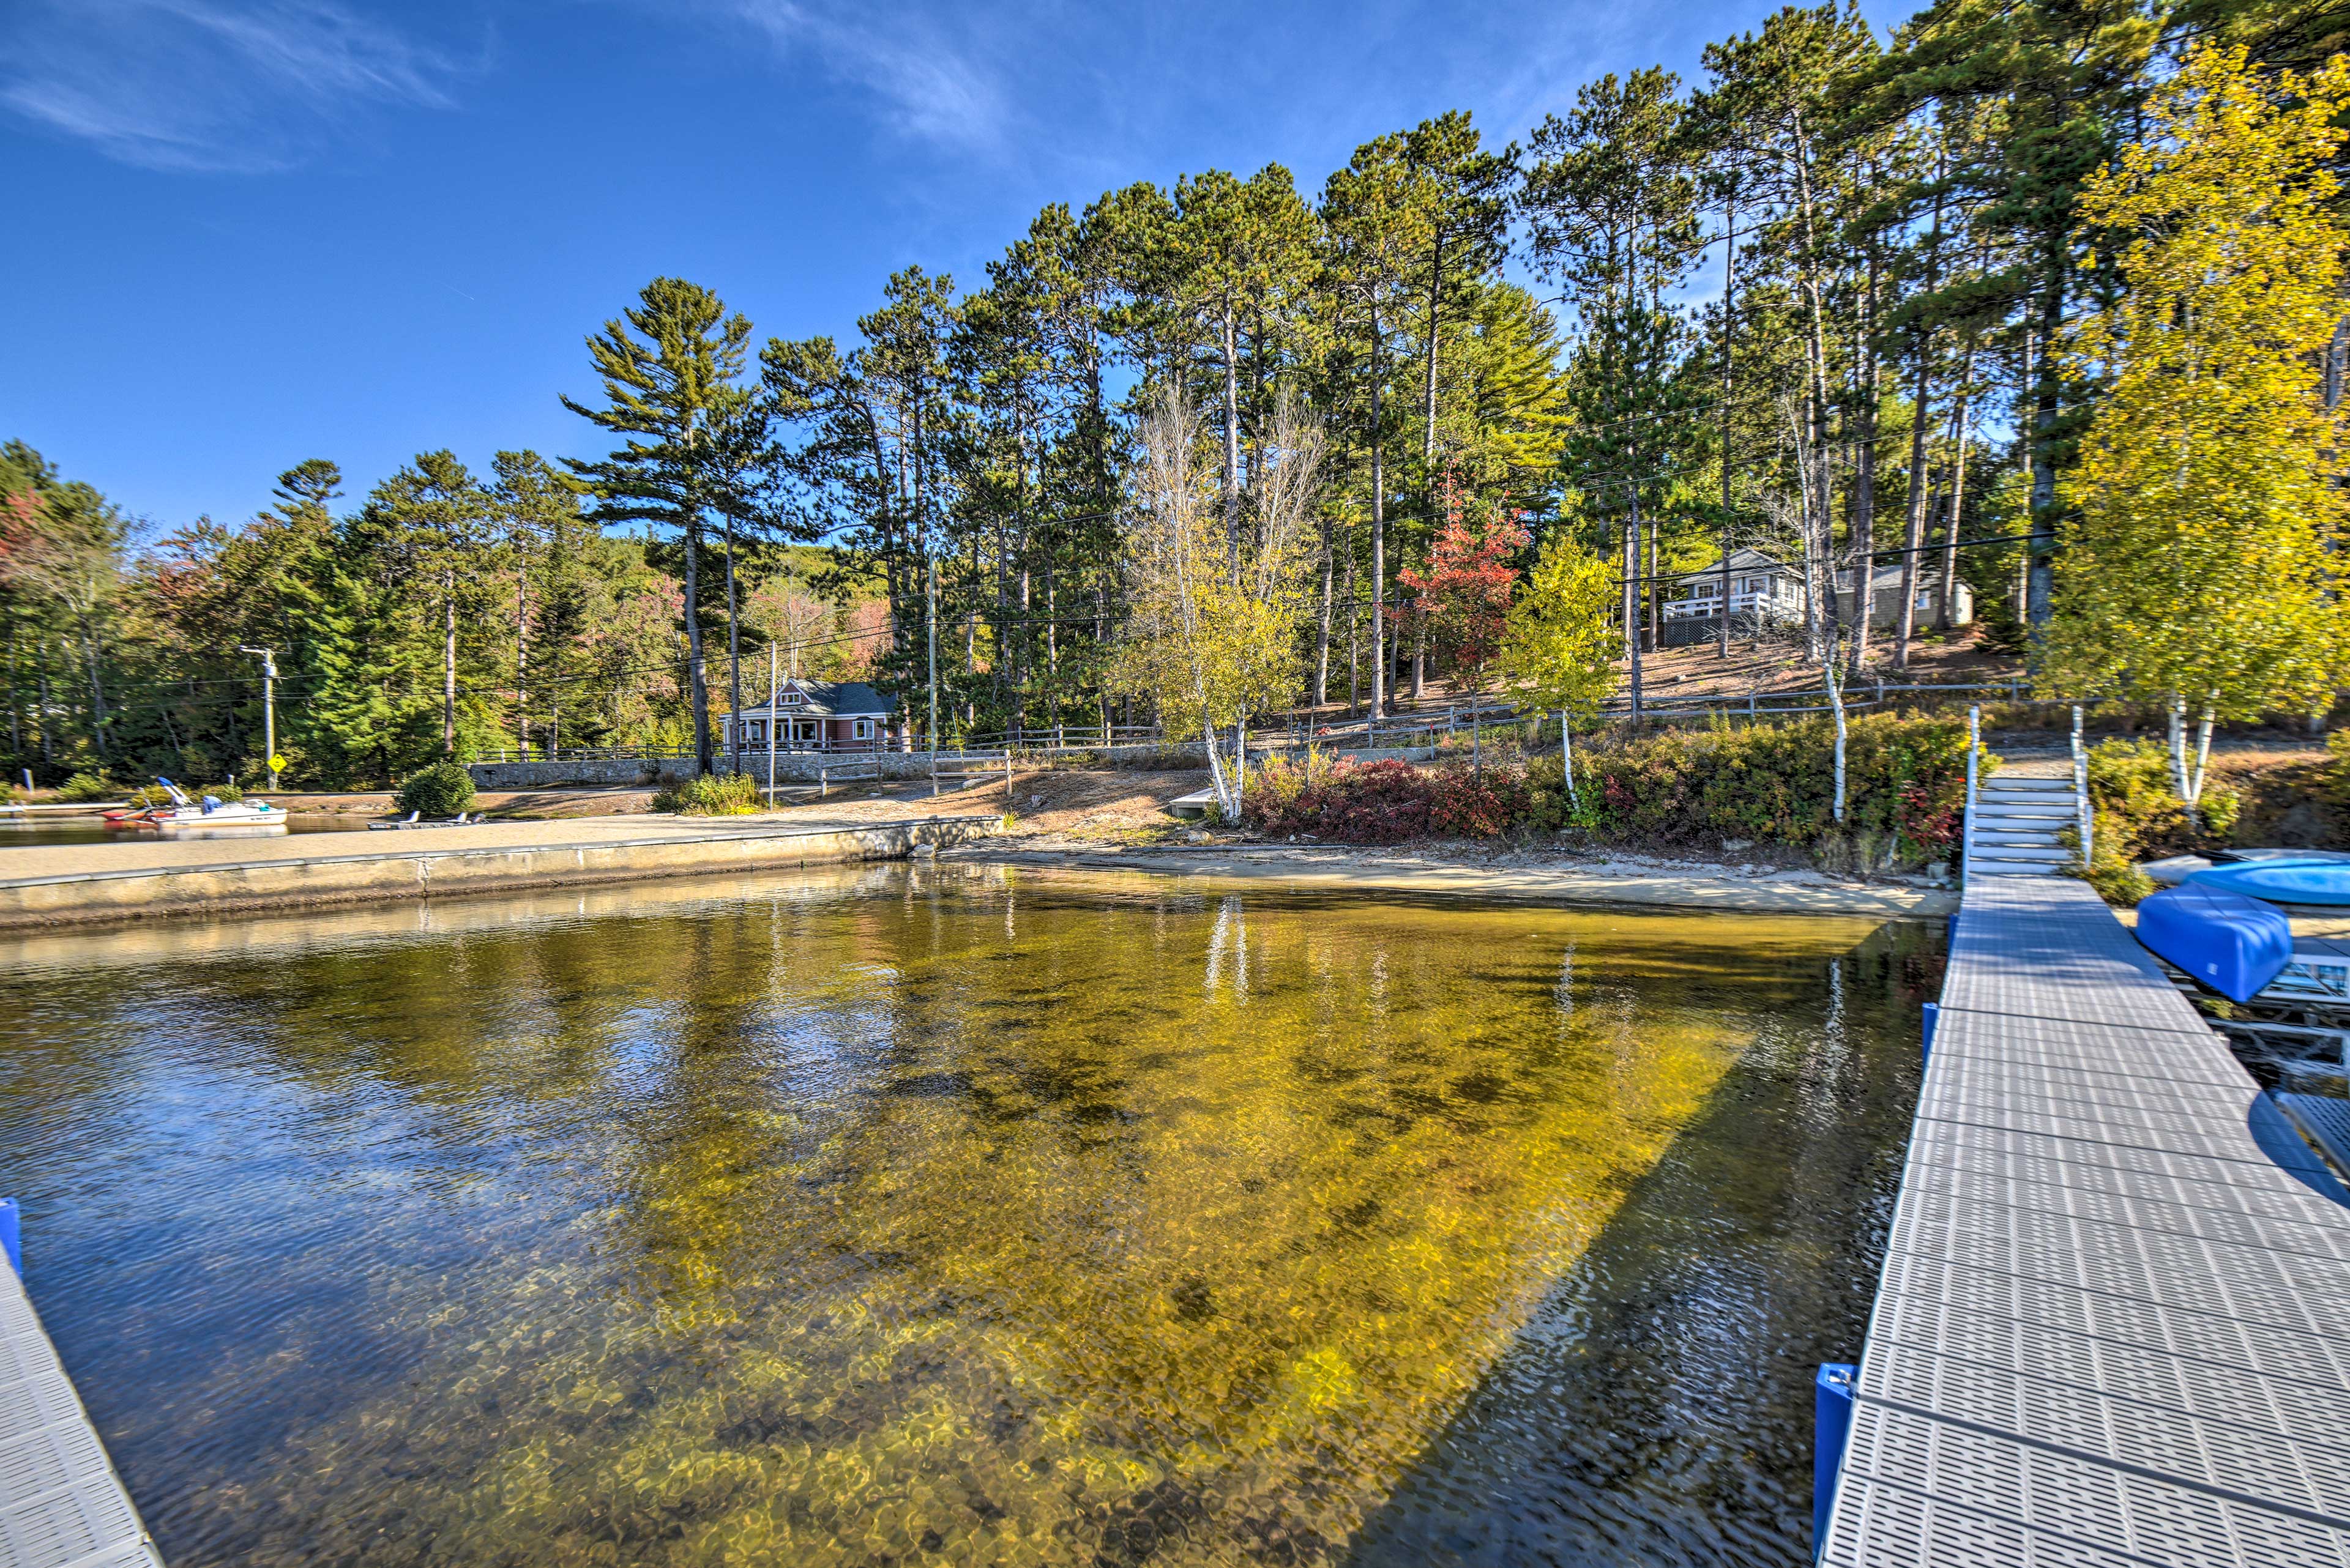
[(56, 1347), (5, 1258), (0, 1568), (162, 1568)]

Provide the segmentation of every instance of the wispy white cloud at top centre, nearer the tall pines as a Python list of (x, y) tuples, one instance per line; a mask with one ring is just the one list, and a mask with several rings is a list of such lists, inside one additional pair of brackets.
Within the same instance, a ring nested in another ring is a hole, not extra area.
[(940, 21), (855, 0), (719, 0), (776, 49), (811, 54), (881, 101), (888, 122), (924, 141), (996, 150), (1010, 129), (1003, 73)]

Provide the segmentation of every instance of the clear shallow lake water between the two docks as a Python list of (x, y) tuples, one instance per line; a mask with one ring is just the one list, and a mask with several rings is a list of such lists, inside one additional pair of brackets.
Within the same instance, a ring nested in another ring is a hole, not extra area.
[(176, 1568), (1805, 1563), (1941, 964), (1001, 867), (5, 952)]

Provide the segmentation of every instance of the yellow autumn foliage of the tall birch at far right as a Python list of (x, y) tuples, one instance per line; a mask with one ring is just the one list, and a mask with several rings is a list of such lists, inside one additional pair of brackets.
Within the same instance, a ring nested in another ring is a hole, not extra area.
[(2329, 583), (2345, 496), (2324, 353), (2345, 306), (2350, 61), (2263, 80), (2197, 47), (2150, 132), (2082, 190), (2124, 292), (2068, 346), (2106, 395), (2059, 498), (2040, 679), (2216, 717), (2317, 710), (2343, 684)]

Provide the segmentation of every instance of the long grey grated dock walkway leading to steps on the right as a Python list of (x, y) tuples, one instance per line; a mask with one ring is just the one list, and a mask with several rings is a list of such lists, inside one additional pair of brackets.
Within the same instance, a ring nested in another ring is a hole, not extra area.
[(2066, 877), (1967, 884), (1821, 1561), (2350, 1568), (2350, 1194)]

